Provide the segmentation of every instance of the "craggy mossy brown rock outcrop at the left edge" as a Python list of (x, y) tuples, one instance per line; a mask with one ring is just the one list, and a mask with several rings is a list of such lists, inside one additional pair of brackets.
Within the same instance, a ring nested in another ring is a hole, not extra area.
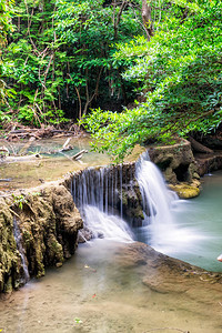
[(67, 179), (1, 199), (0, 292), (24, 282), (24, 265), (31, 276), (40, 278), (47, 266), (60, 266), (74, 253), (82, 219), (68, 183)]

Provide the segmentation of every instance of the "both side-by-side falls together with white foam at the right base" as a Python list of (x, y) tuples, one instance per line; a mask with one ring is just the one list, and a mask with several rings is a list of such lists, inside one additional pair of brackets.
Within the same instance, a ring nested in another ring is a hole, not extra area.
[[(176, 210), (182, 201), (178, 204), (176, 194), (167, 189), (161, 172), (150, 161), (148, 153), (142, 154), (135, 163), (135, 171), (132, 169), (130, 165), (127, 172), (123, 164), (113, 168), (90, 168), (74, 174), (73, 200), (83, 216), (84, 225), (93, 232), (94, 238), (122, 241), (135, 239), (165, 254), (174, 255), (181, 250), (189, 252), (190, 244), (198, 244), (196, 241), (202, 236), (189, 226), (184, 228), (183, 223), (174, 221), (172, 209)], [(125, 195), (131, 196), (133, 204), (133, 195), (137, 192), (133, 174), (142, 196), (142, 202), (140, 195), (135, 198), (137, 204), (142, 204), (142, 223), (141, 218), (139, 223), (137, 219), (134, 223), (130, 220), (130, 214), (128, 215), (131, 206), (129, 196)], [(133, 232), (122, 216), (133, 225)]]

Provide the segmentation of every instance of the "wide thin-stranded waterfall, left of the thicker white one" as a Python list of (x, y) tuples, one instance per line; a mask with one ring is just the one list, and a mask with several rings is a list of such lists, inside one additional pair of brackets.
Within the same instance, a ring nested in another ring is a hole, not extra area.
[(74, 174), (73, 201), (94, 238), (132, 241), (131, 230), (122, 219), (122, 165), (89, 168)]

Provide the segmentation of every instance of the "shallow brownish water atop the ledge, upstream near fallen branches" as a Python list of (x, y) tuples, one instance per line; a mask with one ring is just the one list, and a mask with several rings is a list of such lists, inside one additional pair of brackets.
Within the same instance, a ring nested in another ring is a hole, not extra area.
[[(33, 141), (29, 148), (29, 153), (41, 152), (40, 159), (16, 163), (1, 162), (0, 179), (10, 179), (10, 182), (0, 182), (0, 191), (37, 186), (41, 184), (41, 181), (53, 181), (68, 172), (110, 163), (108, 155), (90, 152), (90, 139), (88, 137), (71, 139), (69, 142), (73, 145), (71, 151), (49, 154), (51, 151), (61, 149), (65, 141), (67, 138)], [(24, 143), (0, 142), (0, 145), (6, 145), (10, 151), (18, 153)], [(88, 150), (89, 153), (83, 154), (81, 161), (73, 161), (71, 157), (83, 149)]]

